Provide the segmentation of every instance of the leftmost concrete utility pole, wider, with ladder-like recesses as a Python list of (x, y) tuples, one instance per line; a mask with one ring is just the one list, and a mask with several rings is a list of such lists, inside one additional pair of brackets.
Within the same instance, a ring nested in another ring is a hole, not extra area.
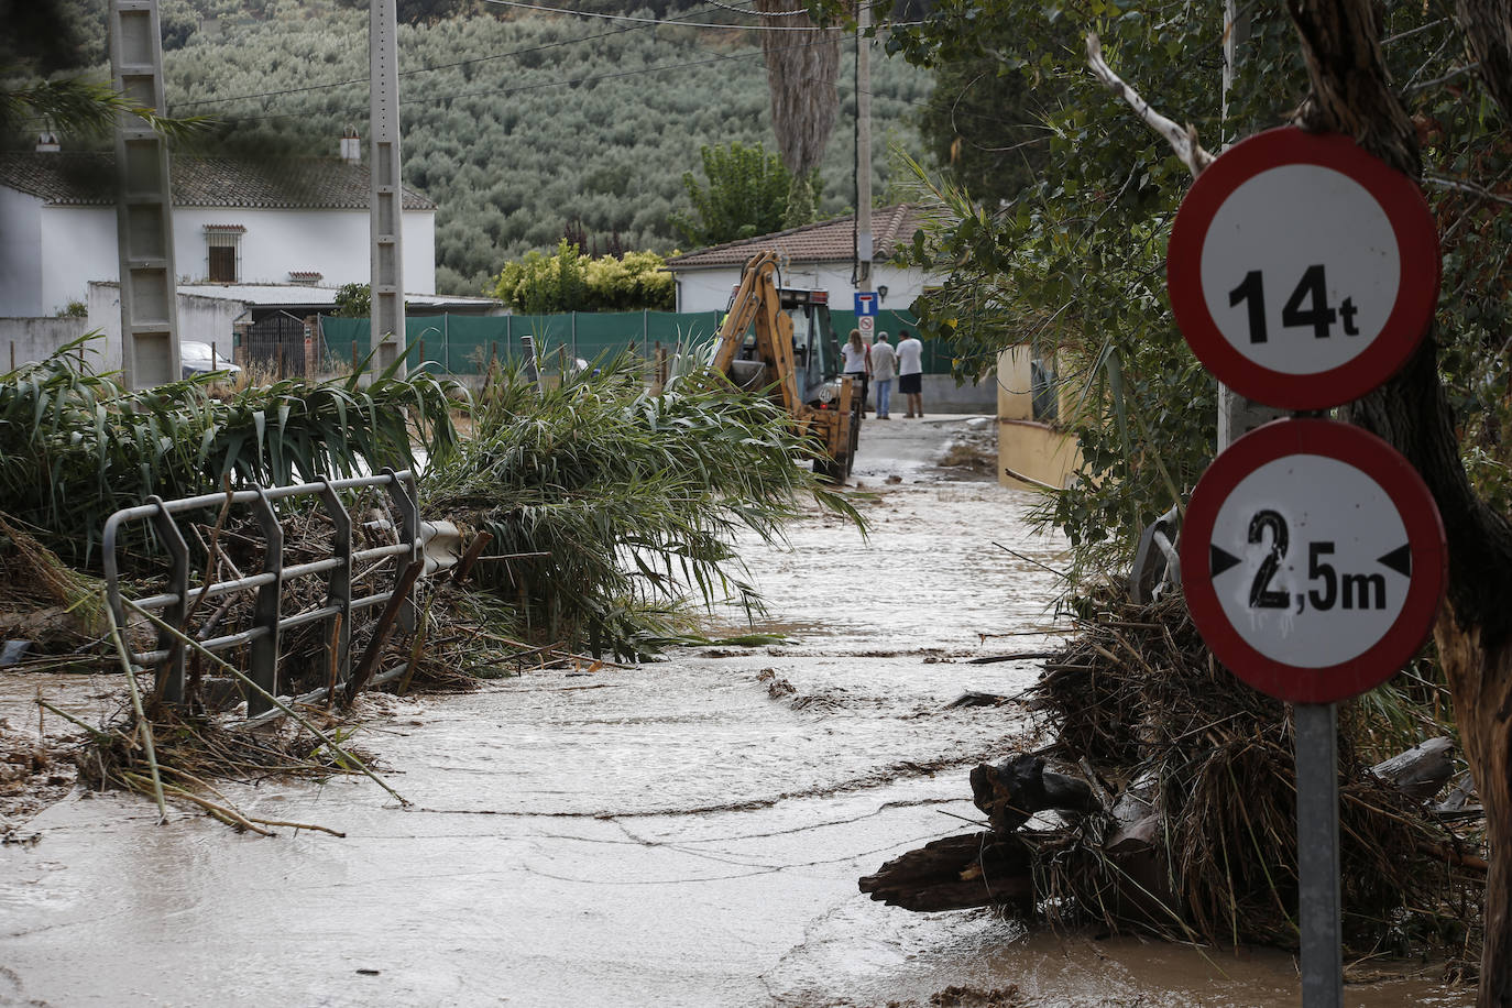
[[(165, 115), (157, 0), (110, 0), (110, 79)], [(115, 240), (121, 263), (121, 370), (127, 388), (178, 379), (178, 289), (168, 142), (139, 116), (115, 125)]]

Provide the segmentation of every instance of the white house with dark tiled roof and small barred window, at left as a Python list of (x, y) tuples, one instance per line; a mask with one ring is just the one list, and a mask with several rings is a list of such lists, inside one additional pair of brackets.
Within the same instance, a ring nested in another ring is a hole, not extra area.
[[(367, 283), (369, 172), (336, 157), (174, 157), (180, 284)], [(0, 316), (36, 317), (116, 281), (115, 156), (0, 154)], [(404, 193), (404, 287), (435, 292), (435, 204)]]

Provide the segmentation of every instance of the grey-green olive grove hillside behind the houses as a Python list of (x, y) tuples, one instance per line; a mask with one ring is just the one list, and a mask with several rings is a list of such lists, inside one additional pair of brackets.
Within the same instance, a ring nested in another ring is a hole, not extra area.
[[(331, 0), (197, 6), (219, 17), (195, 20), (195, 6), (165, 5), (168, 21), (183, 15), (194, 26), (174, 36), (165, 73), (172, 115), (219, 121), (201, 145), (334, 154), (343, 128), (366, 130), (363, 11)], [(629, 8), (618, 5), (638, 18), (756, 24), (709, 5)], [(682, 177), (700, 171), (700, 147), (774, 147), (756, 32), (485, 3), (461, 9), (399, 30), (404, 175), (438, 204), (442, 292), (478, 293), (505, 261), (553, 249), (569, 224), (600, 242), (617, 234), (623, 248), (671, 251), (671, 216), (689, 210)], [(85, 29), (98, 35), (92, 24)], [(821, 216), (847, 212), (854, 199), (853, 48), (848, 41), (842, 48), (838, 125), (820, 165)], [(874, 53), (880, 196), (897, 181), (889, 148), (922, 154), (913, 116), (928, 100), (930, 76), (883, 57), (880, 44)]]

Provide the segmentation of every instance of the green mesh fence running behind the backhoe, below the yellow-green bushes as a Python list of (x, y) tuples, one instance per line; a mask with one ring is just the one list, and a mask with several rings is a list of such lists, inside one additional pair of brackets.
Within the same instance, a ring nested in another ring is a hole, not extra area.
[[(593, 361), (603, 355), (631, 351), (650, 358), (656, 345), (667, 349), (679, 343), (702, 343), (714, 339), (723, 311), (575, 311), (570, 314), (502, 314), (502, 316), (408, 316), (408, 367), (417, 370), (428, 361), (431, 370), (449, 375), (481, 375), (490, 357), (500, 361), (520, 354), (520, 337), (535, 340), (537, 355), (546, 361), (565, 352), (572, 358)], [(830, 311), (835, 335), (844, 340), (856, 328), (853, 311)], [(877, 328), (898, 342), (900, 329), (915, 331), (915, 319), (906, 311), (881, 311)], [(358, 355), (367, 352), (367, 319), (336, 319), (321, 316), (327, 367), (340, 370), (351, 366), (352, 346)], [(939, 340), (924, 343), (924, 372), (950, 373), (950, 352)]]

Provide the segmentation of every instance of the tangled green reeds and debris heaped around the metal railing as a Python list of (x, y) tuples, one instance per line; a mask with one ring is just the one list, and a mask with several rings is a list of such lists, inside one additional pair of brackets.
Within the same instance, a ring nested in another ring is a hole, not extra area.
[[(130, 706), (107, 722), (53, 709), (86, 734), (88, 780), (150, 792), (160, 809), (174, 795), (243, 830), (257, 824), (212, 798), (210, 777), (369, 772), (327, 734), (340, 727), (336, 700), (349, 707), (387, 683), (401, 692), (470, 689), (526, 668), (597, 668), (608, 663), (600, 653), (634, 660), (685, 633), (691, 600), (735, 594), (758, 604), (739, 577), (738, 532), (779, 540), (783, 523), (810, 506), (860, 523), (842, 494), (794, 465), (810, 449), (783, 411), (726, 384), (652, 393), (629, 355), (552, 385), (493, 373), (473, 400), (452, 382), (393, 369), (369, 381), (354, 373), (248, 385), (225, 397), (200, 381), (125, 393), (80, 364), (76, 349), (0, 375), (0, 496), (9, 512), (0, 515), (0, 663), (26, 650), (26, 671), (124, 671)], [(277, 530), (231, 506), (233, 491), (248, 497), (254, 484), (384, 470), (420, 472), (419, 493), (401, 494), (401, 505), (351, 482), (305, 488), (319, 490), (322, 503), (280, 499)], [(112, 526), (125, 529), (110, 552), (127, 638), (116, 639), (92, 576), (106, 518), (154, 494), (218, 502), (221, 493), (225, 503), (200, 514), (160, 511)], [(431, 567), (435, 558), (413, 561), (408, 541), (401, 544), (417, 509), (469, 547), (451, 574)], [(342, 562), (343, 517), (354, 555), (364, 558), (355, 565)], [(325, 571), (343, 567), (351, 595), (345, 577), (340, 594), (327, 580)], [(422, 570), (429, 577), (416, 585)], [(178, 577), (186, 589), (174, 588)], [(212, 592), (212, 582), (225, 591)], [(277, 615), (295, 623), (277, 636), (271, 606), (260, 608), (269, 585), (281, 586)], [(144, 595), (187, 612), (163, 623), (136, 604)], [(224, 650), (201, 645), (212, 638)], [(242, 669), (256, 642), (269, 639), (277, 648), (260, 651), (259, 685)], [(156, 683), (150, 671), (135, 676), (132, 654), (142, 663), (168, 654), (174, 674)], [(342, 656), (351, 674), (337, 689)], [(302, 734), (277, 745), (259, 736), (263, 748), (248, 750), (218, 721), (248, 700), (275, 707), (251, 727), (281, 716)]]

